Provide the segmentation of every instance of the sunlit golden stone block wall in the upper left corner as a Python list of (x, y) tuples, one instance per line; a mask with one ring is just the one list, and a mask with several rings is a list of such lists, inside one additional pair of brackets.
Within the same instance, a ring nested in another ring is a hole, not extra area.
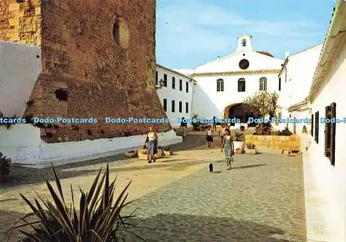
[(0, 39), (41, 45), (41, 1), (0, 1)]

